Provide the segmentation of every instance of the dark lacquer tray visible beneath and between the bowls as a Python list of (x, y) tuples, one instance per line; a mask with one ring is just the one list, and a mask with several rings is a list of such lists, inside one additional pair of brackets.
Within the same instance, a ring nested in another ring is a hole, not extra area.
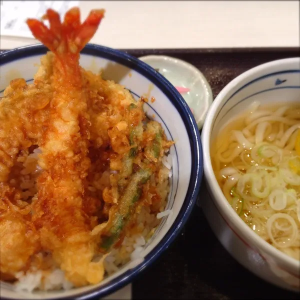
[[(205, 75), (213, 97), (234, 77), (261, 63), (300, 56), (299, 48), (130, 49), (139, 57), (168, 55)], [(200, 191), (199, 198), (201, 199)], [(132, 282), (135, 299), (298, 299), (256, 277), (222, 247), (199, 206), (169, 248)]]

